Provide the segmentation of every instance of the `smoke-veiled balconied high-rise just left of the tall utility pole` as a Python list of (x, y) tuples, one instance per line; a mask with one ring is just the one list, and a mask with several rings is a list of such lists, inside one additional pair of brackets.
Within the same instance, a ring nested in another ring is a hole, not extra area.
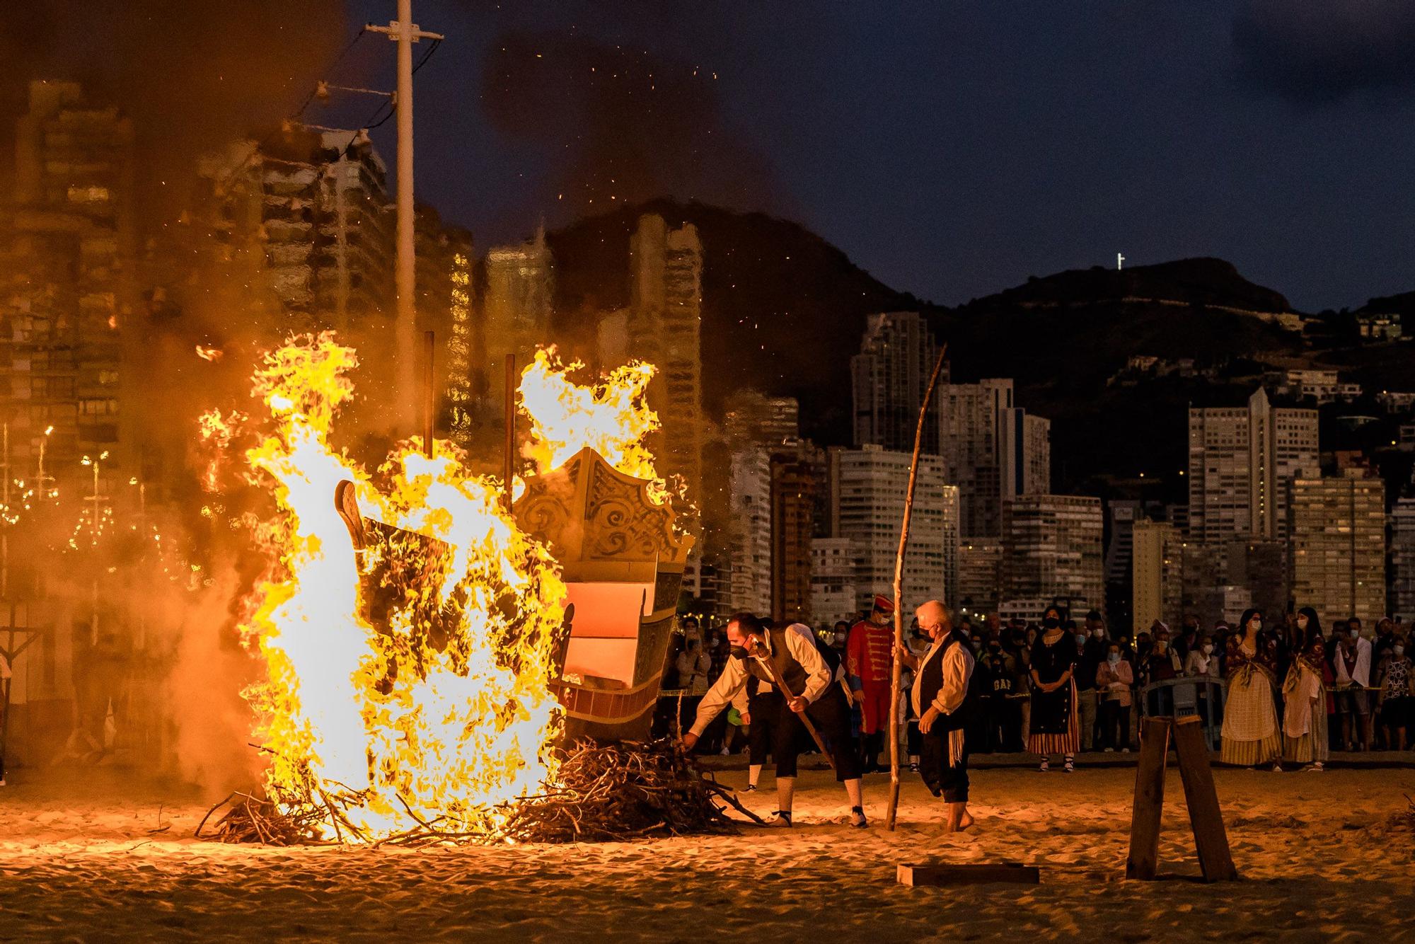
[(249, 286), (276, 331), (379, 330), (393, 303), (386, 168), (357, 130), (287, 125), (198, 164), (212, 262)]

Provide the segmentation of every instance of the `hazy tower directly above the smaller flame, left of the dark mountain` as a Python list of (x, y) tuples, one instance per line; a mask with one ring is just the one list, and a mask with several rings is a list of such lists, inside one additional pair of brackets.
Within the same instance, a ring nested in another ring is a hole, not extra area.
[(487, 402), (501, 406), (505, 398), (507, 358), (516, 359), (519, 372), (549, 341), (555, 306), (555, 256), (545, 242), (545, 228), (515, 246), (487, 252), (487, 287), (481, 303), (484, 355), (477, 386)]

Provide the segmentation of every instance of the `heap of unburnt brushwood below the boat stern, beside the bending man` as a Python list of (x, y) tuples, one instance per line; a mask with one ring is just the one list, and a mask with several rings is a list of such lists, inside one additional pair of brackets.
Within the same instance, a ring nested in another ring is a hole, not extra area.
[(516, 842), (734, 834), (737, 825), (726, 807), (761, 822), (732, 790), (706, 780), (672, 740), (582, 740), (565, 752), (553, 790), (505, 807), (501, 834)]

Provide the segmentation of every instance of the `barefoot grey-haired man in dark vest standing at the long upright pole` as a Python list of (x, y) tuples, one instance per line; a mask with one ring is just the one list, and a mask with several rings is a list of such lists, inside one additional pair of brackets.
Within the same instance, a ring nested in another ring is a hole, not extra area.
[(948, 802), (947, 831), (957, 832), (974, 821), (968, 814), (968, 744), (964, 742), (974, 657), (952, 631), (942, 603), (930, 600), (914, 616), (932, 640), (923, 657), (900, 647), (900, 658), (916, 669), (910, 698), (923, 735), (918, 773), (924, 785)]

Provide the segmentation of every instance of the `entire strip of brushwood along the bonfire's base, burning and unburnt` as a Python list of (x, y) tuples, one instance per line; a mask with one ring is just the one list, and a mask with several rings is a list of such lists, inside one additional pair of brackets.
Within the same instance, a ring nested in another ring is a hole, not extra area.
[[(392, 836), (368, 836), (345, 811), (351, 800), (328, 793), (307, 777), (299, 795), (258, 797), (233, 793), (212, 807), (197, 827), (198, 839), (266, 845), (427, 845), (436, 842), (614, 842), (649, 836), (734, 834), (730, 807), (760, 824), (733, 791), (708, 780), (676, 742), (600, 744), (577, 742), (563, 750), (555, 784), (474, 819), (423, 819), (405, 802), (416, 825)], [(357, 795), (354, 795), (357, 800)], [(402, 800), (402, 798), (399, 798)], [(722, 805), (719, 805), (719, 802)], [(209, 832), (207, 822), (226, 808)], [(495, 825), (492, 825), (495, 824)], [(333, 828), (334, 835), (330, 835)]]

